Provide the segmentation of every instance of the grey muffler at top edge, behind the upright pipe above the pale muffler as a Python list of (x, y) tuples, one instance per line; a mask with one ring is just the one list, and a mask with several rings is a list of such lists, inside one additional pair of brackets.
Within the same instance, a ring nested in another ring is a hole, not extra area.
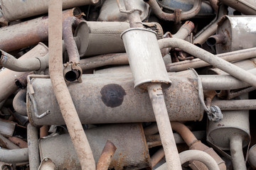
[[(119, 0), (121, 6), (124, 7), (124, 1)], [(133, 1), (133, 6), (142, 11), (140, 18), (142, 21), (149, 16), (149, 5), (144, 3), (143, 0)], [(121, 13), (117, 6), (116, 0), (107, 0), (100, 8), (100, 16), (97, 18), (97, 21), (114, 21), (114, 22), (124, 22), (127, 21), (127, 13)]]

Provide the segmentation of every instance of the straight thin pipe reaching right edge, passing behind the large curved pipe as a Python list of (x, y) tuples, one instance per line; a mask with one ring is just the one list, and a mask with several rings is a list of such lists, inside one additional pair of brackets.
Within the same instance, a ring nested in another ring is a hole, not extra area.
[[(256, 47), (245, 49), (245, 50), (238, 50), (233, 52), (225, 52), (223, 54), (215, 55), (216, 57), (220, 57), (223, 60), (228, 62), (233, 62), (237, 60), (245, 60), (250, 59), (252, 57), (256, 57)], [(207, 62), (204, 62), (201, 59), (193, 59), (193, 60), (186, 60), (183, 62), (174, 62), (171, 64), (166, 65), (167, 72), (180, 72), (186, 70), (188, 68), (200, 68), (210, 66)]]

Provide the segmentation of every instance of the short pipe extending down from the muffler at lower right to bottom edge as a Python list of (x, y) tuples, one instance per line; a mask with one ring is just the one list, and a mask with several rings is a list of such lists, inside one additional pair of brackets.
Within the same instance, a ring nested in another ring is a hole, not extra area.
[(245, 158), (242, 153), (242, 136), (233, 135), (230, 138), (230, 152), (234, 170), (246, 170)]

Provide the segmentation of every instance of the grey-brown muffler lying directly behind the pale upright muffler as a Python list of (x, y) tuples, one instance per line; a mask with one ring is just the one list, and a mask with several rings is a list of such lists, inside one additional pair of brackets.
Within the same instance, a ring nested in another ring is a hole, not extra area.
[[(159, 37), (163, 30), (159, 23), (143, 23), (147, 28), (154, 28)], [(129, 28), (125, 22), (82, 21), (75, 29), (80, 57), (125, 52), (121, 33)]]

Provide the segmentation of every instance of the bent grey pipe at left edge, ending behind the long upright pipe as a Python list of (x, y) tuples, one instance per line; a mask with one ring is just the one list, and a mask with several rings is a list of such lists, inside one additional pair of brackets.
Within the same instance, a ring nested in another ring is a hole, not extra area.
[(14, 72), (31, 72), (44, 70), (48, 67), (48, 54), (43, 57), (26, 58), (22, 60), (0, 50), (0, 65)]

